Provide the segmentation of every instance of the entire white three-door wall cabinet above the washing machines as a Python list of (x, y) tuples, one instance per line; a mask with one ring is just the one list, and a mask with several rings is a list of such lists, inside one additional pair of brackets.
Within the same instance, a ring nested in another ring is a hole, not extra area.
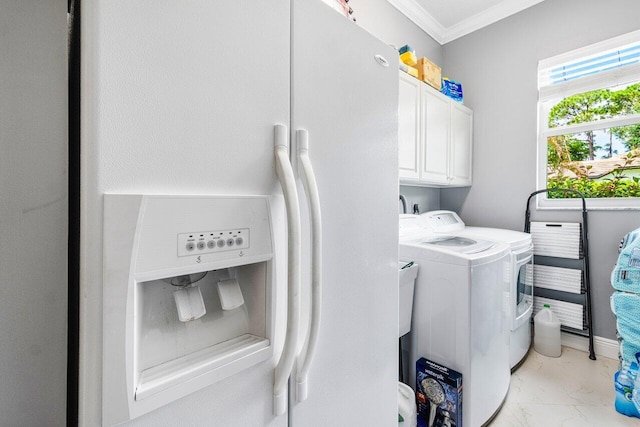
[(471, 185), (473, 112), (400, 72), (399, 175), (404, 185)]

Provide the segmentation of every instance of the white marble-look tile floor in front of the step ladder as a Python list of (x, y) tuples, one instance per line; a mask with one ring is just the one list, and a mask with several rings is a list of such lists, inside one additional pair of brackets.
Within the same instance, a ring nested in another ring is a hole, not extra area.
[(639, 418), (613, 407), (613, 374), (618, 361), (590, 360), (587, 353), (562, 347), (559, 358), (533, 349), (511, 376), (507, 399), (491, 427), (640, 426)]

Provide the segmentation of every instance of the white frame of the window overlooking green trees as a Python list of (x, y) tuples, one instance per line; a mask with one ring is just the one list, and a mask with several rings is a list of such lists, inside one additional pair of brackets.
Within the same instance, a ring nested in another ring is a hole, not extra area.
[[(547, 187), (547, 137), (583, 132), (586, 130), (607, 129), (630, 124), (640, 124), (640, 114), (599, 120), (597, 122), (580, 123), (554, 128), (548, 127), (550, 110), (549, 101), (561, 100), (571, 95), (585, 93), (592, 90), (611, 88), (640, 82), (640, 63), (602, 71), (575, 80), (540, 87), (542, 70), (557, 67), (573, 61), (583, 59), (601, 52), (640, 42), (640, 30), (623, 34), (600, 43), (589, 45), (564, 54), (538, 61), (538, 135), (537, 135), (537, 189)], [(585, 198), (589, 209), (592, 210), (640, 210), (640, 197), (627, 198)], [(580, 199), (552, 199), (547, 193), (541, 193), (536, 198), (538, 209), (582, 209)]]

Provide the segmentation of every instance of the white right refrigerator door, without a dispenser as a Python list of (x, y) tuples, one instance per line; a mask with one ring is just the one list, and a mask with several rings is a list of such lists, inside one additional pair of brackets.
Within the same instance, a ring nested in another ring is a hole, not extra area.
[[(292, 8), (292, 132), (308, 131), (324, 251), (322, 325), (308, 398), (290, 400), (291, 426), (395, 425), (397, 52), (322, 2), (293, 1)], [(302, 205), (306, 316), (310, 226)]]

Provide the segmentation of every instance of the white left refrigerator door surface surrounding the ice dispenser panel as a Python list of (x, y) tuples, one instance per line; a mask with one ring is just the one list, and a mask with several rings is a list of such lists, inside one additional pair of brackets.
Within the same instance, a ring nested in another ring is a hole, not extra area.
[[(289, 123), (290, 5), (82, 6), (79, 424), (94, 426), (102, 419), (103, 194), (280, 194), (273, 125)], [(282, 240), (284, 219), (274, 221)], [(130, 424), (285, 425), (286, 416), (272, 415), (285, 329), (276, 321), (272, 359)]]

